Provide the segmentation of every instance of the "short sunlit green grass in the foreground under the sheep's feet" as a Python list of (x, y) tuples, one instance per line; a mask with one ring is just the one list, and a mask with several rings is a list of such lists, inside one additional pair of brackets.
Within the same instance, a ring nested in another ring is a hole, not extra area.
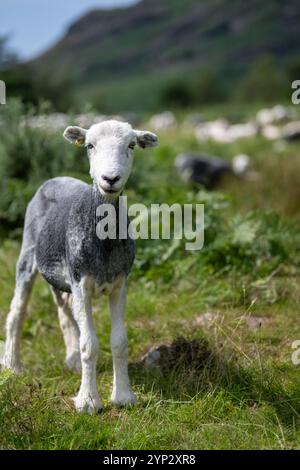
[[(16, 254), (17, 246), (11, 243), (1, 251), (1, 326), (12, 294)], [(243, 297), (243, 286), (223, 277), (199, 279), (196, 288), (171, 289), (163, 295), (132, 282), (127, 320), (130, 375), (139, 401), (125, 410), (109, 404), (109, 315), (104, 299), (96, 302), (98, 387), (105, 410), (85, 416), (75, 413), (68, 398), (75, 394), (79, 376), (63, 368), (55, 308), (39, 280), (22, 339), (25, 373), (0, 376), (0, 447), (298, 448), (300, 374), (291, 362), (291, 343), (300, 338), (299, 279), (278, 282), (288, 289), (283, 300), (266, 304), (257, 299), (250, 305), (241, 300), (235, 306), (234, 297)], [(195, 318), (207, 311), (215, 312), (216, 320), (195, 327)], [(251, 330), (243, 315), (269, 321)], [(199, 343), (203, 363), (187, 365), (182, 360), (163, 373), (141, 366), (142, 354), (153, 344), (179, 335)]]

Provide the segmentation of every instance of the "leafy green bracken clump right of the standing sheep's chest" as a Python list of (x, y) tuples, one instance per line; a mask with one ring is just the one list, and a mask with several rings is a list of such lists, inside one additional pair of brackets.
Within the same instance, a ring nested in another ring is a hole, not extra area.
[(138, 275), (142, 273), (145, 281), (156, 280), (157, 285), (160, 279), (169, 286), (182, 274), (179, 263), (181, 269), (186, 266), (187, 276), (201, 276), (209, 268), (223, 273), (234, 270), (254, 279), (271, 275), (285, 263), (300, 265), (298, 230), (276, 212), (255, 210), (227, 220), (228, 200), (222, 194), (201, 191), (189, 202), (205, 206), (203, 249), (186, 251), (185, 240), (139, 241)]

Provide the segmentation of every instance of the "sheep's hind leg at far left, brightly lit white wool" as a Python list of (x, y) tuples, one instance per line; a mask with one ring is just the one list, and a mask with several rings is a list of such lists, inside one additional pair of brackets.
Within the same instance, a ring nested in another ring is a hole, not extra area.
[(17, 264), (15, 292), (6, 320), (6, 341), (2, 359), (3, 368), (16, 373), (22, 370), (20, 337), (36, 273), (34, 249), (21, 252)]

